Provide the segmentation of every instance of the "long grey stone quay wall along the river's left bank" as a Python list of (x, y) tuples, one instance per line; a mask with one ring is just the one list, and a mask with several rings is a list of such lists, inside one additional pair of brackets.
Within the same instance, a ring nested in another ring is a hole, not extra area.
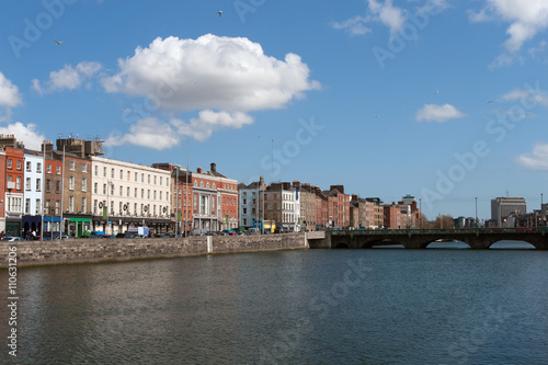
[(16, 248), (18, 267), (309, 248), (306, 233), (149, 239), (67, 239), (44, 242), (0, 241), (0, 267), (8, 267), (10, 252), (14, 247)]

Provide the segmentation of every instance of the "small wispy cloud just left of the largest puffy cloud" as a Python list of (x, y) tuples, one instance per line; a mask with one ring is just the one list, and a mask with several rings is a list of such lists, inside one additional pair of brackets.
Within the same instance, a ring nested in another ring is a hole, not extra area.
[(75, 90), (81, 87), (82, 82), (90, 79), (102, 66), (99, 62), (82, 61), (76, 67), (66, 65), (58, 71), (49, 72), (49, 80), (46, 81), (46, 87), (43, 88), (36, 79), (32, 80), (32, 87), (38, 93), (49, 93), (61, 90)]

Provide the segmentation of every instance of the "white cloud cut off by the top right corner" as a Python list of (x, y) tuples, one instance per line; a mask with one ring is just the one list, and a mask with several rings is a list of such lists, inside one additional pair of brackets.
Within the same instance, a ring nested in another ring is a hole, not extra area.
[(486, 5), (479, 11), (470, 11), (472, 22), (502, 20), (510, 23), (505, 48), (513, 53), (532, 39), (537, 33), (548, 27), (548, 1), (546, 0), (484, 0)]

